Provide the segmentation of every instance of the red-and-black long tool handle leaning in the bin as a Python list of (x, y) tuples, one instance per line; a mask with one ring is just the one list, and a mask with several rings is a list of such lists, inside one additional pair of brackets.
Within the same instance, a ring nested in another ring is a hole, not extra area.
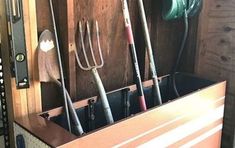
[(135, 43), (134, 43), (134, 37), (133, 37), (132, 28), (131, 28), (131, 20), (130, 20), (128, 5), (127, 5), (126, 0), (121, 0), (121, 2), (122, 2), (122, 10), (123, 10), (125, 28), (126, 28), (126, 33), (127, 33), (127, 40), (128, 40), (129, 46), (130, 46), (131, 58), (132, 58), (134, 71), (135, 71), (135, 83), (137, 86), (140, 108), (142, 111), (145, 111), (145, 110), (147, 110), (147, 107), (146, 107), (144, 91), (143, 91), (143, 86), (142, 86), (141, 77), (140, 77), (138, 60), (137, 60), (137, 56), (136, 56)]

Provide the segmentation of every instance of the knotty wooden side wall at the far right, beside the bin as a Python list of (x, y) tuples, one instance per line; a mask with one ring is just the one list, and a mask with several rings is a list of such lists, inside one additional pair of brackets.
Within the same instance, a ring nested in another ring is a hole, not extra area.
[(204, 1), (199, 24), (196, 72), (205, 78), (228, 81), (222, 144), (234, 147), (235, 1)]

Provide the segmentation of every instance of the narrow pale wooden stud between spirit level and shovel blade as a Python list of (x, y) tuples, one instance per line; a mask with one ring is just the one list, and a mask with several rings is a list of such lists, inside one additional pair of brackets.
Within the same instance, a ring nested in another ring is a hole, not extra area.
[(25, 22), (25, 40), (28, 50), (28, 66), (30, 77), (30, 88), (27, 89), (28, 113), (37, 113), (42, 111), (41, 86), (38, 79), (37, 65), (37, 17), (36, 1), (27, 0), (23, 3), (24, 22)]

